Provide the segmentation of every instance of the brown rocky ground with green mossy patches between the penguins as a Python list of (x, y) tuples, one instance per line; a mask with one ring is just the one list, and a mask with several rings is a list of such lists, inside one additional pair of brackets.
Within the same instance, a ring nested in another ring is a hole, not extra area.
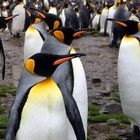
[[(3, 139), (7, 113), (15, 97), (15, 86), (23, 65), (24, 35), (13, 38), (8, 32), (0, 33), (6, 55), (6, 76), (0, 75), (0, 139)], [(117, 83), (118, 49), (109, 48), (110, 39), (88, 35), (74, 40), (87, 77), (89, 95), (89, 140), (122, 140), (119, 135), (131, 132), (128, 119), (122, 115)], [(10, 86), (10, 87), (9, 87)]]

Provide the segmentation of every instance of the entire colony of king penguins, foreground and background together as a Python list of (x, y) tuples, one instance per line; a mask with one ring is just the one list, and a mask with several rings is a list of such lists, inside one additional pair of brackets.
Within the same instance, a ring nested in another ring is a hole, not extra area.
[[(88, 97), (83, 65), (69, 45), (91, 30), (119, 48), (123, 112), (140, 139), (140, 2), (137, 0), (3, 0), (0, 29), (25, 34), (24, 64), (5, 140), (86, 140)], [(0, 40), (0, 66), (5, 56)], [(134, 69), (137, 70), (134, 72)]]

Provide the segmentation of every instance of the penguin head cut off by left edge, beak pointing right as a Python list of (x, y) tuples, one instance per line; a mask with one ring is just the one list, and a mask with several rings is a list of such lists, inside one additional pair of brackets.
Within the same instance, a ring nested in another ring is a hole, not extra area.
[(0, 29), (1, 28), (6, 28), (6, 24), (8, 22), (10, 22), (16, 16), (18, 16), (18, 15), (9, 16), (9, 17), (0, 17)]

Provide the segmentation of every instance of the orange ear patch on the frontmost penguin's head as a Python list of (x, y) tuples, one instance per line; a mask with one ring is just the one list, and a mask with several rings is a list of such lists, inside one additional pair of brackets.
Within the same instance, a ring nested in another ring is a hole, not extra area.
[(35, 61), (33, 59), (28, 59), (25, 63), (25, 68), (28, 72), (35, 75), (34, 68), (35, 68)]

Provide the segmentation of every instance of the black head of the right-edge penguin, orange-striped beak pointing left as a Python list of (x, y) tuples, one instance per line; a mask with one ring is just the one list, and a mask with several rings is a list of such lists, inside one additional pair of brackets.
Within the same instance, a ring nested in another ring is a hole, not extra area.
[(126, 35), (133, 35), (140, 31), (140, 22), (134, 20), (125, 20), (125, 21), (117, 19), (107, 19), (107, 20), (119, 24), (123, 28)]

